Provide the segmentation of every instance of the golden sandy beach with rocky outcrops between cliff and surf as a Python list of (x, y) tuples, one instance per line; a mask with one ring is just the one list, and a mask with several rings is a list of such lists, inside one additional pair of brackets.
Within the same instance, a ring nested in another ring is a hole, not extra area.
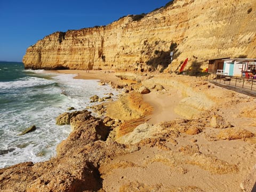
[[(253, 188), (255, 98), (183, 75), (134, 74), (134, 82), (122, 78), (133, 79), (131, 73), (57, 72), (113, 82), (123, 94), (95, 107), (106, 112), (103, 120), (86, 110), (58, 117), (73, 131), (57, 147), (57, 157), (0, 170), (1, 189), (55, 190), (56, 182), (63, 191)], [(141, 87), (150, 93), (141, 94)], [(26, 177), (16, 180), (21, 174)]]

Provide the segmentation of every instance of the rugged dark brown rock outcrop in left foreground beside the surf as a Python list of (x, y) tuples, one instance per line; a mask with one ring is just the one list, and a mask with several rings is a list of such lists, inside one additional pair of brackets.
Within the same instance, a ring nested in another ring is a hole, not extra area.
[(108, 129), (88, 111), (71, 118), (74, 131), (58, 146), (58, 155), (42, 163), (26, 162), (0, 169), (0, 189), (8, 191), (97, 191), (102, 188), (101, 161), (133, 149), (102, 141)]

